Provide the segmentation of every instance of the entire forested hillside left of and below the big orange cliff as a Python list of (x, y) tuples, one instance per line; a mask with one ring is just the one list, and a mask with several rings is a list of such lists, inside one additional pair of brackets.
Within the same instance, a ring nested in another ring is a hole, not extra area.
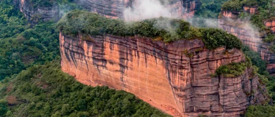
[(63, 73), (55, 22), (31, 26), (12, 0), (2, 0), (0, 27), (0, 116), (169, 116), (133, 94)]

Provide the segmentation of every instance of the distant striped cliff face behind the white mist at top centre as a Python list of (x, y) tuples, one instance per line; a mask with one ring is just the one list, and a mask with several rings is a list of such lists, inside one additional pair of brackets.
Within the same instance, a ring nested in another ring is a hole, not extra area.
[[(75, 3), (91, 12), (109, 18), (122, 18), (125, 8), (133, 7), (140, 0), (75, 0)], [(186, 18), (193, 16), (195, 10), (200, 7), (199, 0), (173, 0), (167, 7), (171, 12), (178, 13), (178, 16)]]

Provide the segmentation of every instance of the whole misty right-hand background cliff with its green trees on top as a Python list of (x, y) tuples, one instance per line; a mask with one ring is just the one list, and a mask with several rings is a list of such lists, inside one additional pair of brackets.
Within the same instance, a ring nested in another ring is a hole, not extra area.
[[(230, 0), (222, 6), (218, 23), (219, 27), (237, 36), (250, 49), (258, 52), (262, 59), (268, 62), (268, 72), (275, 75), (273, 46), (275, 31), (273, 12), (275, 10), (273, 6), (268, 4), (269, 1), (266, 0), (259, 5), (258, 2), (253, 1), (250, 1), (250, 4), (249, 1), (246, 3), (245, 1)], [(259, 13), (259, 8), (265, 13)], [(267, 39), (268, 35), (273, 35), (273, 37)], [(265, 40), (269, 41), (266, 42)]]

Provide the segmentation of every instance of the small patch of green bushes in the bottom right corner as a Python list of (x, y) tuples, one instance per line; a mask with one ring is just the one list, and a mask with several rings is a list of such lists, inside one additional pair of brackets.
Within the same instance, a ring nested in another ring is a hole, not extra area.
[(245, 117), (274, 117), (275, 106), (250, 105)]

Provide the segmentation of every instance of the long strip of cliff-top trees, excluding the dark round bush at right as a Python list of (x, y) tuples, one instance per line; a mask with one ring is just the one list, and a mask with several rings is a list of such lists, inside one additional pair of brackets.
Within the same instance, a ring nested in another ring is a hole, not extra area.
[(87, 11), (74, 10), (58, 23), (61, 32), (76, 36), (84, 35), (141, 35), (151, 38), (161, 37), (164, 42), (178, 39), (200, 38), (200, 32), (184, 20), (154, 18), (140, 22), (126, 23), (120, 19), (109, 19)]

